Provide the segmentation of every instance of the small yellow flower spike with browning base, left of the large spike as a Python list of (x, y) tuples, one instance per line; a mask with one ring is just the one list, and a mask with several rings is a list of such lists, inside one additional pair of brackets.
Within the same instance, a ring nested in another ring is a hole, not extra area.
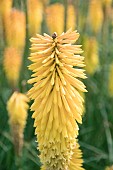
[(23, 132), (26, 125), (27, 110), (29, 108), (27, 104), (28, 101), (29, 99), (25, 94), (16, 91), (7, 102), (9, 124), (17, 155), (20, 155), (22, 151), (24, 138)]

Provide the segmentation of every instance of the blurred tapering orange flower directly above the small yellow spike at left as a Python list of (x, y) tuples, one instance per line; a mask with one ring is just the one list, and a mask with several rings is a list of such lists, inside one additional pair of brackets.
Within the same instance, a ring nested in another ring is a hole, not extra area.
[(19, 79), (22, 57), (13, 47), (4, 51), (3, 67), (9, 83), (16, 87)]

